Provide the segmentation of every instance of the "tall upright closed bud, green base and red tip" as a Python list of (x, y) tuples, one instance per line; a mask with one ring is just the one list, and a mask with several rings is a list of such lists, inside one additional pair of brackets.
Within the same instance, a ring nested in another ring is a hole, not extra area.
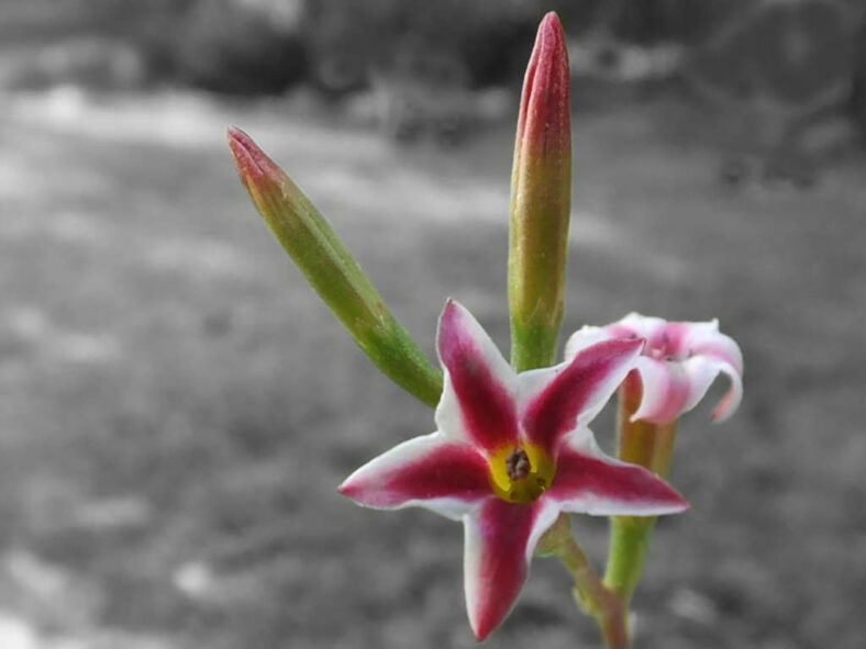
[(553, 12), (539, 26), (523, 81), (511, 174), (511, 362), (518, 371), (552, 365), (563, 322), (571, 209), (568, 53)]

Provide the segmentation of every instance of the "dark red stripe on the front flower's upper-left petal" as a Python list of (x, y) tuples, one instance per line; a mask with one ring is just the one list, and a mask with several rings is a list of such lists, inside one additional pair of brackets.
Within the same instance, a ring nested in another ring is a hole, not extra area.
[[(440, 321), (440, 359), (448, 372), (469, 436), (493, 451), (517, 441), (518, 423), (513, 395), (491, 371), (482, 349), (488, 340), (482, 336), (486, 334), (471, 316), (455, 302), (448, 302)], [(492, 353), (499, 354), (492, 343), (489, 345)]]

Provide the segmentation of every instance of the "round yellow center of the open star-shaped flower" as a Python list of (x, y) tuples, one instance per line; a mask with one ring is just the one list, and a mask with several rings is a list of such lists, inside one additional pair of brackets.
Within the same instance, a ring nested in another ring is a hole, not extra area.
[(556, 473), (549, 456), (534, 444), (503, 446), (488, 461), (493, 493), (510, 503), (531, 503), (551, 486)]

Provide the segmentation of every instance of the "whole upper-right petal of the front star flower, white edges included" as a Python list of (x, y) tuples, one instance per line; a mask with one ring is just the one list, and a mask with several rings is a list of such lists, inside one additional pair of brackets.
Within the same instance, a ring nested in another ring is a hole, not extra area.
[(588, 424), (604, 406), (634, 368), (643, 344), (643, 339), (604, 340), (554, 368), (522, 373), (523, 428), (529, 439), (555, 457), (559, 439), (578, 421)]

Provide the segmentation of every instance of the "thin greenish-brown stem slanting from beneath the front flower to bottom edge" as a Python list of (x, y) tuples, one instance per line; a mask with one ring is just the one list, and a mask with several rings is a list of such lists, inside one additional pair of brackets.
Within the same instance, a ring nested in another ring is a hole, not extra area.
[(598, 623), (604, 646), (609, 649), (629, 647), (628, 608), (623, 601), (604, 586), (584, 549), (571, 535), (568, 514), (560, 514), (544, 533), (536, 553), (558, 557), (575, 580), (575, 601), (581, 611)]

